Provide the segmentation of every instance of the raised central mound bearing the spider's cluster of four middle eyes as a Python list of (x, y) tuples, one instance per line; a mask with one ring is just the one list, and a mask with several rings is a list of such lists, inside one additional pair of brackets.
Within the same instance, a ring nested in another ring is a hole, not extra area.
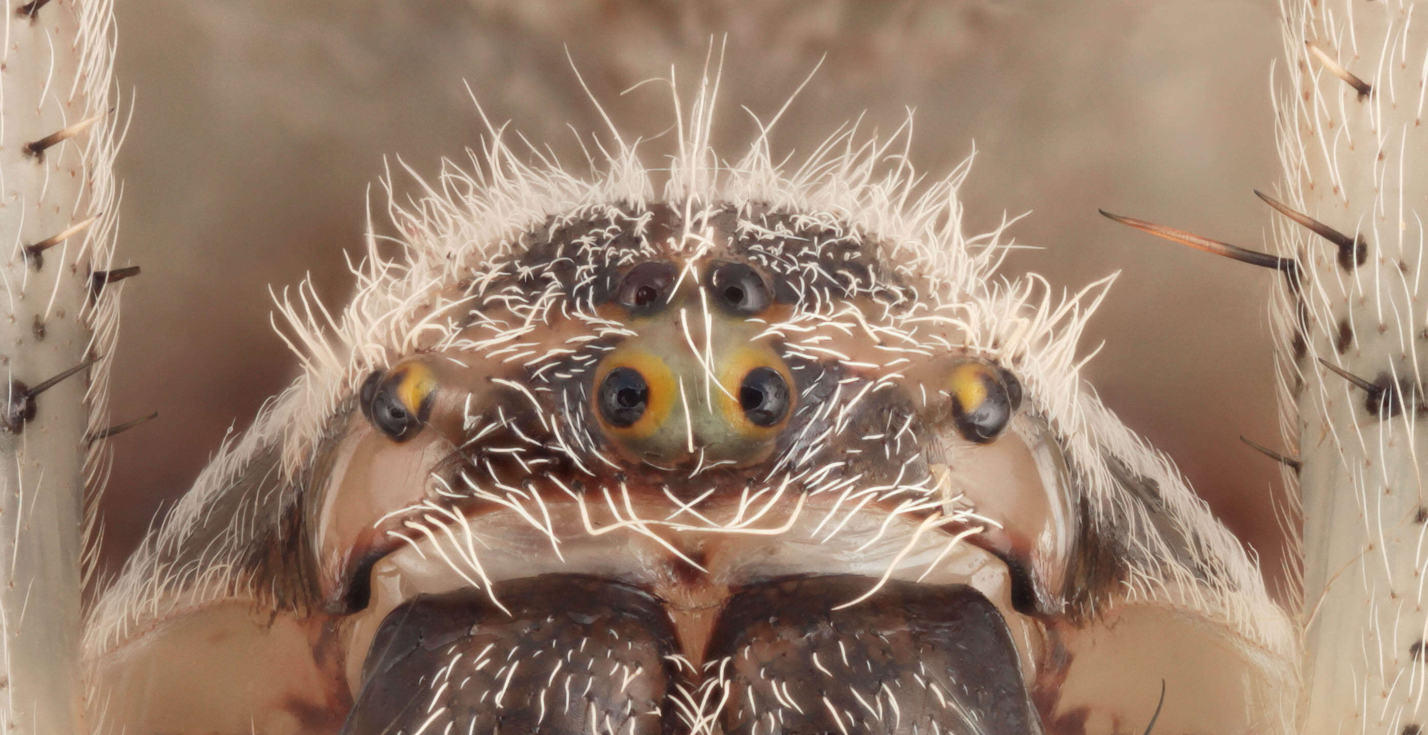
[(610, 444), (635, 470), (757, 464), (774, 452), (798, 402), (791, 355), (774, 334), (760, 334), (774, 314), (765, 275), (727, 261), (690, 271), (703, 288), (675, 288), (667, 260), (631, 267), (617, 297), (628, 314), (613, 314), (627, 328), (591, 343), (608, 353), (597, 358), (590, 387), (603, 430), (590, 441)]

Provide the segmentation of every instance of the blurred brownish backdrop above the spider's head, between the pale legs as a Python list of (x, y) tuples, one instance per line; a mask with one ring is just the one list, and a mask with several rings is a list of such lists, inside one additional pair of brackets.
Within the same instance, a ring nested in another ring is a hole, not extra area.
[[(296, 375), (268, 287), (311, 274), (340, 304), (368, 188), (400, 156), (436, 174), (486, 133), (467, 84), (583, 168), (603, 131), (571, 61), (627, 137), (671, 123), (677, 70), (697, 87), (725, 43), (714, 144), (737, 157), (814, 69), (775, 154), (810, 151), (844, 120), (891, 131), (915, 108), (912, 161), (940, 177), (972, 151), (968, 231), (1004, 213), (1031, 245), (1005, 271), (1078, 290), (1122, 271), (1082, 350), (1131, 427), (1281, 577), (1279, 448), (1268, 294), (1274, 274), (1171, 245), (1097, 208), (1265, 247), (1274, 190), (1274, 0), (565, 1), (124, 0), (119, 81), (133, 107), (120, 156), (126, 284), (113, 363), (106, 547), (117, 565), (228, 431)], [(567, 60), (567, 53), (570, 60)], [(747, 107), (748, 111), (744, 111)], [(667, 138), (644, 147), (660, 166)], [(384, 158), (387, 157), (387, 158)], [(797, 156), (795, 156), (797, 158)]]

